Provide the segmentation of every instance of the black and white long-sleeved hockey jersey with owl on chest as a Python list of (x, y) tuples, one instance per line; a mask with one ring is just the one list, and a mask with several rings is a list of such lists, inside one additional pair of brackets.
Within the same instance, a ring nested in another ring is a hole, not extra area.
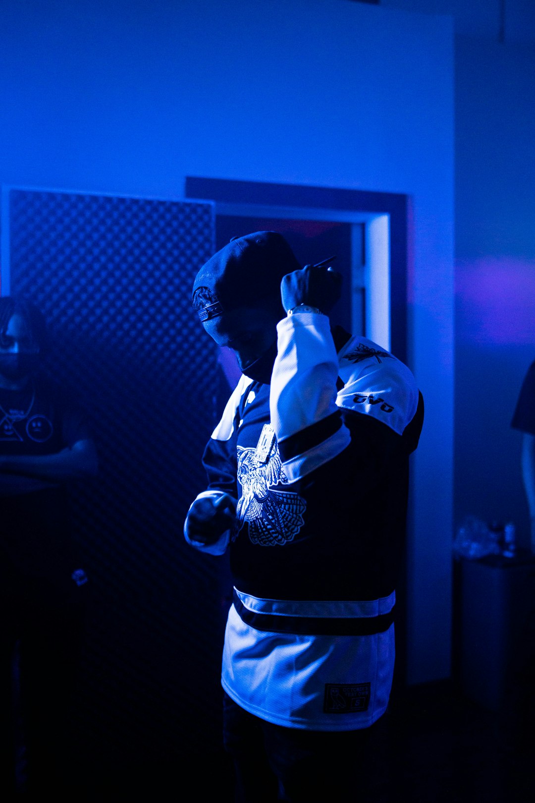
[[(334, 340), (337, 343), (334, 343)], [(242, 376), (206, 447), (232, 495), (222, 684), (275, 724), (343, 731), (386, 710), (408, 457), (423, 402), (406, 365), (319, 313), (278, 324), (270, 384)]]

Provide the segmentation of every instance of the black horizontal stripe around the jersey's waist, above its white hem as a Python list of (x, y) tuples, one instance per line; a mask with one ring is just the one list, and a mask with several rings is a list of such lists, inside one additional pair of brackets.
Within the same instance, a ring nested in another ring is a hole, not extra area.
[(234, 608), (246, 625), (268, 633), (292, 633), (302, 636), (373, 636), (384, 633), (394, 622), (394, 607), (388, 613), (363, 618), (324, 618), (280, 616), (276, 613), (256, 613), (233, 592)]

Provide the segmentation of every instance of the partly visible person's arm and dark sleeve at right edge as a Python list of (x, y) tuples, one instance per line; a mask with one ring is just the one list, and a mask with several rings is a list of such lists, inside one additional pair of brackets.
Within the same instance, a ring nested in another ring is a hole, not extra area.
[(535, 554), (535, 361), (524, 377), (511, 426), (522, 433), (522, 481), (531, 521), (531, 551)]

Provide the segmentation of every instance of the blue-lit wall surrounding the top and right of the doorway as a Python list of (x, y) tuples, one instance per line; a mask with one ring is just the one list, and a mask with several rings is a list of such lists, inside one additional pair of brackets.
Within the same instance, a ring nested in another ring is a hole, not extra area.
[(411, 682), (448, 676), (452, 21), (334, 0), (0, 7), (0, 180), (180, 198), (200, 175), (409, 194)]

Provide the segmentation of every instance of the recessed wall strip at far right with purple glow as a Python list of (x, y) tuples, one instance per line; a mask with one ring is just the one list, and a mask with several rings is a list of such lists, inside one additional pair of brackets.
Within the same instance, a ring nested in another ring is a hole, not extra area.
[(533, 47), (456, 44), (455, 520), (517, 524), (529, 544), (521, 434), (535, 359)]

